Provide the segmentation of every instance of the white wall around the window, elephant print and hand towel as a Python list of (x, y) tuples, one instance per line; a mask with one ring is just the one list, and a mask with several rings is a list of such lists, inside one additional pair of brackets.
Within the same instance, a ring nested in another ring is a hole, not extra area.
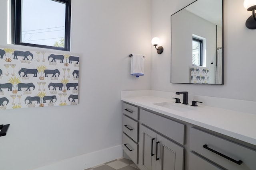
[[(0, 170), (29, 170), (122, 144), (121, 90), (150, 89), (150, 14), (148, 0), (72, 0), (80, 104), (1, 110), (0, 125), (10, 127), (0, 137)], [(0, 1), (0, 21), (1, 47), (36, 49), (6, 43), (7, 0)], [(131, 53), (145, 56), (140, 78), (129, 75)]]

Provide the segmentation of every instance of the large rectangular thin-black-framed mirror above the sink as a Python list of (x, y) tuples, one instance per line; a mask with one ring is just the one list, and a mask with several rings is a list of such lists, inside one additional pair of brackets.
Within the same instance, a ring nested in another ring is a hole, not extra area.
[(171, 83), (223, 84), (222, 0), (196, 0), (171, 16)]

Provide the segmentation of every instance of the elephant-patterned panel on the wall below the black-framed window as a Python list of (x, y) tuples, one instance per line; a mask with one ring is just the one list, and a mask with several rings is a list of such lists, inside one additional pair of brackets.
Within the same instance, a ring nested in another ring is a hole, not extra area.
[(79, 57), (0, 48), (0, 110), (78, 104)]

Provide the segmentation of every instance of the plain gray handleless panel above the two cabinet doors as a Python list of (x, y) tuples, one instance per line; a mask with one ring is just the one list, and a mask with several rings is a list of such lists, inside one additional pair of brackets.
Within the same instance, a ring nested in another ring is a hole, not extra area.
[(140, 109), (140, 122), (184, 145), (185, 125)]

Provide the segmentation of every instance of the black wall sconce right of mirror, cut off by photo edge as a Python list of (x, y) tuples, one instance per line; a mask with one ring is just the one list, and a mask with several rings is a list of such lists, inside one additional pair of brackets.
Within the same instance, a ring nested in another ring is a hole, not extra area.
[(250, 16), (245, 22), (246, 27), (249, 29), (256, 29), (256, 0), (244, 0), (244, 8), (247, 11), (252, 11), (252, 16)]

